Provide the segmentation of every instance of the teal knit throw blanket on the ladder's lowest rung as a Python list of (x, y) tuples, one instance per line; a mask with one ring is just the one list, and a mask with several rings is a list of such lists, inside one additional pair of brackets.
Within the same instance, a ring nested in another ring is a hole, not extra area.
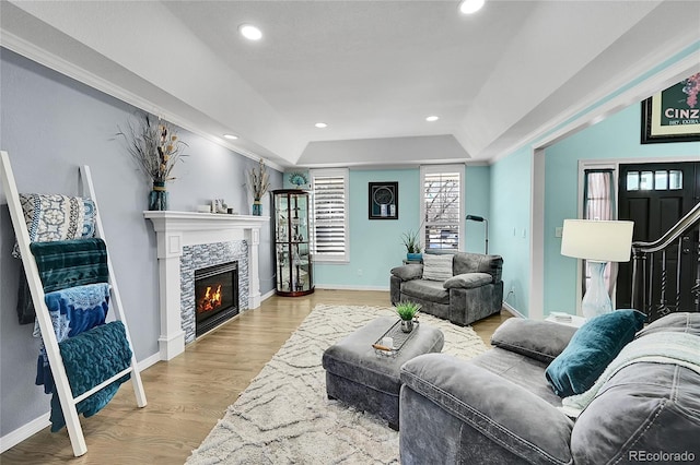
[[(60, 343), (61, 357), (73, 396), (79, 396), (97, 384), (129, 368), (131, 348), (126, 336), (124, 323), (113, 321), (90, 331), (70, 337)], [(119, 385), (129, 380), (126, 374), (108, 384), (75, 406), (78, 414), (91, 417), (100, 412), (114, 397)], [(60, 431), (66, 419), (58, 395), (51, 398), (51, 432)]]

